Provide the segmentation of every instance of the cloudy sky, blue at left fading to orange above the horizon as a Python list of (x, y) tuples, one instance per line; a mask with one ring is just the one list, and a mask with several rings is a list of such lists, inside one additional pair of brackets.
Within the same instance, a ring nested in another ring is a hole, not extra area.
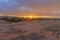
[(0, 0), (0, 15), (60, 16), (60, 0)]

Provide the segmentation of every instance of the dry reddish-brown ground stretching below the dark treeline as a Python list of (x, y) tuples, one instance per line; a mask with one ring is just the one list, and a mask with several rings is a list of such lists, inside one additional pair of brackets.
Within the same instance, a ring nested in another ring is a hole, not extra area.
[(0, 22), (0, 40), (60, 40), (60, 20)]

